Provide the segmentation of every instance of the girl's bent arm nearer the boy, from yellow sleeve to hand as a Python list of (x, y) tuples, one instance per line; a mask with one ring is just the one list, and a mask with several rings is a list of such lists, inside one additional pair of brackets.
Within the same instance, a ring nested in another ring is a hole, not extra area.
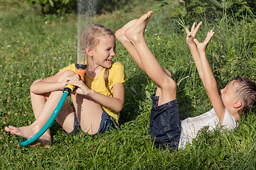
[(113, 97), (100, 94), (92, 89), (89, 89), (83, 81), (79, 80), (78, 75), (75, 75), (76, 80), (68, 81), (68, 84), (78, 86), (75, 91), (76, 94), (87, 95), (99, 102), (103, 106), (113, 109), (114, 111), (121, 111), (124, 105), (124, 84), (114, 84), (113, 86)]

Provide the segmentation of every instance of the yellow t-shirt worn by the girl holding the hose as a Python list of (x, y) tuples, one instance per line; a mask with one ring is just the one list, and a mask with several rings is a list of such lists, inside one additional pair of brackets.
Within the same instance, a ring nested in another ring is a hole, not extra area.
[[(72, 70), (75, 72), (75, 64), (70, 64), (68, 67), (65, 67), (63, 69), (60, 69), (60, 73), (66, 71), (66, 70)], [(124, 81), (127, 80), (126, 74), (124, 72), (124, 67), (120, 62), (114, 62), (112, 64), (112, 67), (109, 69), (109, 83), (108, 86), (110, 88), (110, 91), (107, 90), (107, 87), (105, 86), (105, 80), (104, 80), (104, 71), (95, 78), (90, 77), (87, 73), (85, 73), (85, 82), (87, 86), (97, 91), (100, 94), (104, 94), (106, 96), (111, 96), (111, 93), (113, 94), (113, 86), (114, 84), (124, 83)], [(119, 112), (113, 111), (111, 108), (107, 108), (105, 106), (102, 106), (102, 108), (110, 115), (112, 116), (118, 123), (119, 120)]]

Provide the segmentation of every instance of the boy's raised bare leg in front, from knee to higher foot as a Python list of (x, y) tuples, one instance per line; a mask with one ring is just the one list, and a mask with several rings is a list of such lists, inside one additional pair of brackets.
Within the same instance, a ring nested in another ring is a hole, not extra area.
[(124, 32), (124, 35), (132, 42), (132, 45), (134, 45), (139, 59), (142, 62), (144, 72), (157, 84), (159, 105), (161, 105), (176, 99), (176, 83), (166, 74), (167, 72), (162, 69), (144, 40), (144, 30), (152, 13), (152, 11), (149, 11), (144, 14), (132, 27)]

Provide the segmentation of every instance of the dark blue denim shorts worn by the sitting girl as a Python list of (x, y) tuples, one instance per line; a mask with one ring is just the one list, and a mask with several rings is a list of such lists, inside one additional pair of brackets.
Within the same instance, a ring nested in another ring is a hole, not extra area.
[[(93, 134), (93, 135), (89, 135), (90, 137), (95, 137), (95, 135), (99, 134), (99, 133), (104, 133), (106, 131), (110, 131), (112, 129), (119, 129), (119, 126), (117, 125), (117, 122), (114, 120), (114, 118), (112, 116), (110, 116), (109, 114), (107, 114), (107, 112), (104, 111), (104, 109), (102, 109), (102, 120), (100, 121), (100, 128), (97, 131), (97, 133)], [(75, 112), (74, 112), (75, 113)], [(80, 127), (80, 123), (78, 122), (78, 116), (75, 113), (75, 118), (74, 118), (74, 129), (72, 132), (67, 133), (68, 135), (75, 135), (76, 132), (78, 132), (78, 130), (82, 130)]]

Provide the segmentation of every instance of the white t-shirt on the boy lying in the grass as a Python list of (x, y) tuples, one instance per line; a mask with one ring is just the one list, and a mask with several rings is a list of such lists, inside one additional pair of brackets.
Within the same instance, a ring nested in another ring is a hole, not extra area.
[[(213, 108), (203, 115), (181, 120), (181, 138), (178, 143), (178, 149), (185, 148), (186, 143), (192, 142), (192, 140), (196, 138), (198, 131), (206, 126), (208, 126), (209, 131), (220, 126), (218, 116)], [(225, 109), (225, 115), (223, 123), (221, 123), (221, 127), (225, 130), (238, 128), (238, 123), (235, 121), (233, 115), (228, 113), (227, 109)]]

